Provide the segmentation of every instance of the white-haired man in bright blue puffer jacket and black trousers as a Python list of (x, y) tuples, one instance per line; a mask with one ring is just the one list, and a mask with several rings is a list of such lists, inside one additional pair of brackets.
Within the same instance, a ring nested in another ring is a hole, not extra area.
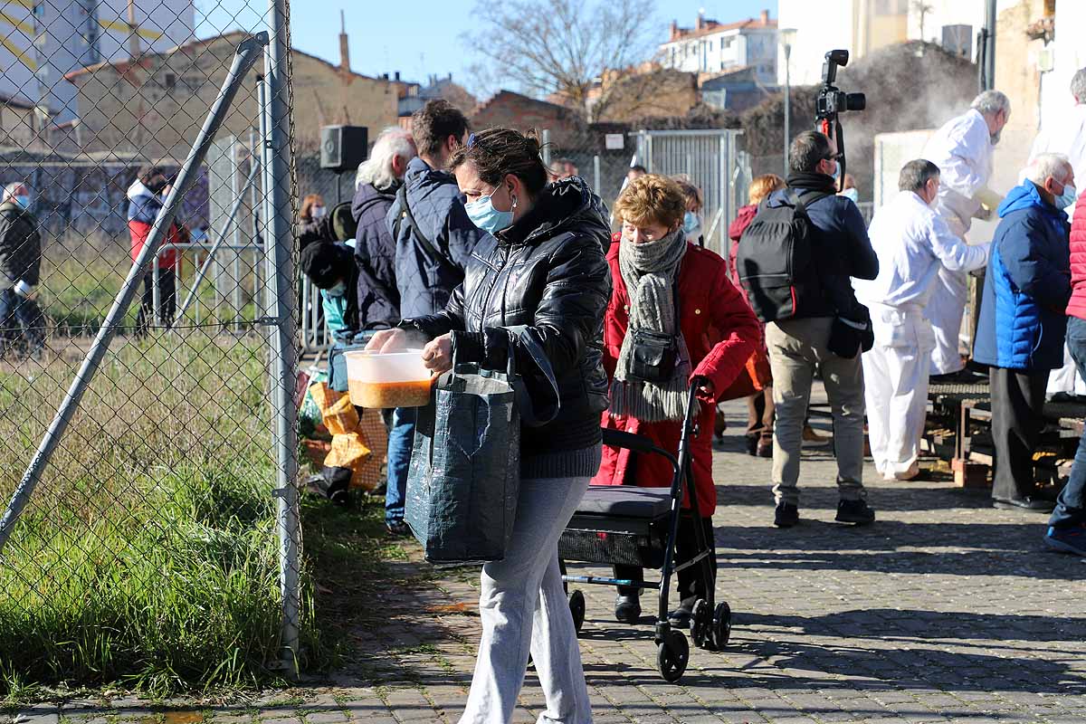
[(989, 365), (997, 508), (1048, 512), (1034, 497), (1033, 450), (1044, 425), (1048, 373), (1063, 365), (1071, 299), (1071, 227), (1063, 208), (1074, 200), (1068, 157), (1037, 155), (1025, 180), (999, 205), (973, 358)]

